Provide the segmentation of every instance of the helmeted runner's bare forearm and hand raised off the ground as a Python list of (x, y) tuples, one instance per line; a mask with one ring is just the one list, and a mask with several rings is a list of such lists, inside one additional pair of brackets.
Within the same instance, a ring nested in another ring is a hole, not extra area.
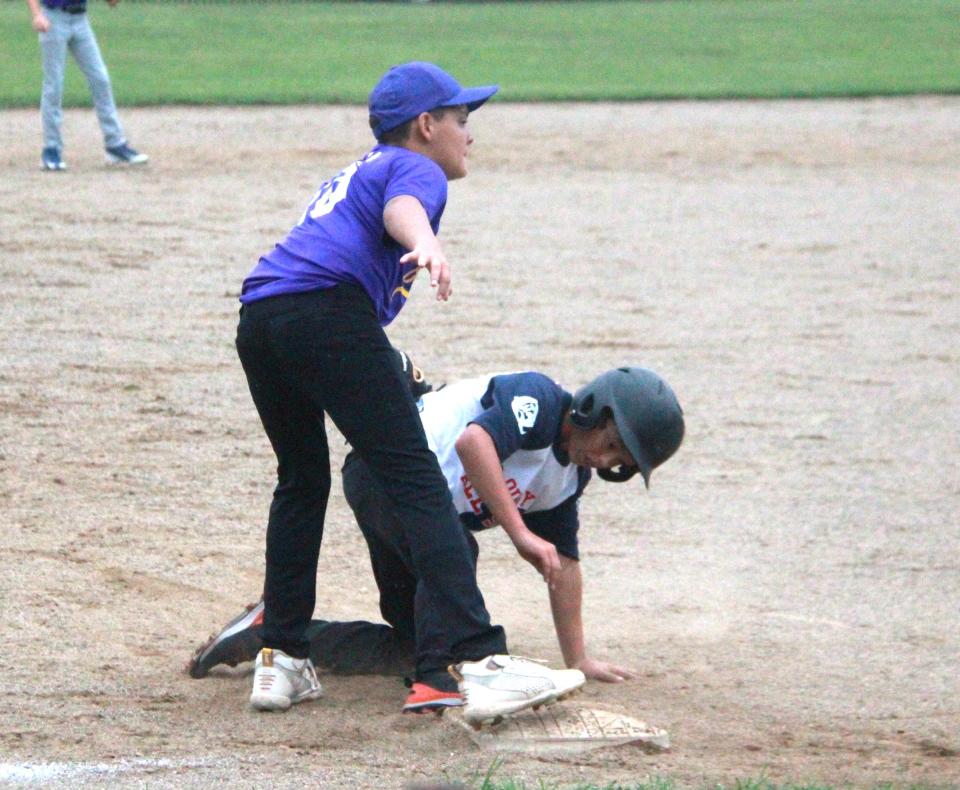
[(463, 471), (480, 494), (483, 504), (510, 536), (520, 556), (552, 586), (554, 576), (560, 571), (560, 555), (556, 546), (534, 535), (523, 523), (520, 511), (507, 490), (503, 467), (490, 434), (476, 423), (468, 425), (457, 439), (456, 448)]

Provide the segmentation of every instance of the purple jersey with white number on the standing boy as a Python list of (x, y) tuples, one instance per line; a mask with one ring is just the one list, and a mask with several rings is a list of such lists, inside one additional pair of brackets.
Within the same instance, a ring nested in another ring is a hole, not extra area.
[(386, 326), (417, 275), (415, 265), (401, 266), (408, 250), (383, 225), (384, 206), (400, 195), (419, 200), (433, 232), (440, 230), (447, 178), (439, 165), (406, 148), (378, 145), (321, 185), (300, 222), (243, 281), (240, 301), (351, 283), (367, 292)]

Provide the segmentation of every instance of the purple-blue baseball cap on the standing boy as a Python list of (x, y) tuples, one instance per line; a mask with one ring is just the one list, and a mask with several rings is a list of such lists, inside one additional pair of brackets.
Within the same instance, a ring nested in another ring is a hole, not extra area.
[(370, 115), (376, 120), (373, 135), (384, 132), (437, 107), (465, 104), (473, 112), (500, 89), (499, 85), (464, 88), (433, 63), (413, 61), (394, 66), (370, 91)]

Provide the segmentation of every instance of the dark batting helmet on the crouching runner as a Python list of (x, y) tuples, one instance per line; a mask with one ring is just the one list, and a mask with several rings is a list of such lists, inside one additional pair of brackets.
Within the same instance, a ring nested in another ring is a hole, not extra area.
[(597, 376), (573, 396), (570, 419), (590, 429), (613, 418), (636, 466), (598, 469), (604, 480), (621, 483), (637, 472), (650, 487), (650, 473), (683, 441), (683, 409), (662, 378), (646, 368), (614, 368)]

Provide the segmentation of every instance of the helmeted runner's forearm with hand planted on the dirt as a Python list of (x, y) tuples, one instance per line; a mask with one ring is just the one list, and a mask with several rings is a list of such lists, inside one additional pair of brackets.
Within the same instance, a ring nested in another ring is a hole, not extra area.
[(632, 670), (587, 655), (583, 639), (583, 577), (580, 563), (560, 557), (560, 572), (550, 587), (550, 610), (564, 663), (591, 680), (620, 683), (634, 677)]

